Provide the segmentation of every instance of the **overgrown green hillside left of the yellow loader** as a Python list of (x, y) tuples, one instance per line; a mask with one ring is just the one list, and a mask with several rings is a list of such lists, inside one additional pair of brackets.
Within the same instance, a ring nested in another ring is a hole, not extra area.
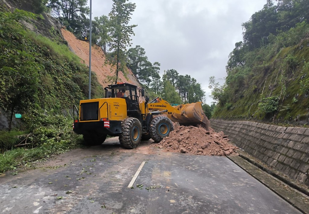
[[(0, 132), (0, 174), (16, 163), (75, 148), (80, 141), (72, 132), (70, 114), (73, 105), (87, 97), (89, 69), (59, 36), (50, 40), (21, 24), (32, 19), (43, 17), (1, 7), (0, 108), (9, 120), (21, 113), (23, 123), (12, 127), (17, 131)], [(54, 29), (49, 31), (53, 34)], [(101, 97), (104, 90), (94, 73), (91, 82), (92, 98)], [(15, 148), (14, 135), (21, 133), (29, 135), (22, 144), (30, 147), (6, 151)]]

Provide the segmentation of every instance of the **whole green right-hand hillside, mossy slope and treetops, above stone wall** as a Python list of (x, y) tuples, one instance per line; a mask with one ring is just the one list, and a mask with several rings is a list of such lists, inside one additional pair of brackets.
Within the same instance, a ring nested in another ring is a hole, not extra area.
[(267, 1), (243, 23), (243, 42), (229, 55), (225, 84), (210, 78), (218, 104), (214, 117), (278, 123), (308, 119), (309, 5), (277, 2)]

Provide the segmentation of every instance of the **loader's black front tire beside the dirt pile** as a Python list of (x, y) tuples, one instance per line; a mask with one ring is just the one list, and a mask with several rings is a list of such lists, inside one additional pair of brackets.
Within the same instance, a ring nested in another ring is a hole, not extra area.
[(149, 134), (152, 140), (159, 143), (174, 130), (172, 121), (163, 115), (158, 115), (150, 121)]

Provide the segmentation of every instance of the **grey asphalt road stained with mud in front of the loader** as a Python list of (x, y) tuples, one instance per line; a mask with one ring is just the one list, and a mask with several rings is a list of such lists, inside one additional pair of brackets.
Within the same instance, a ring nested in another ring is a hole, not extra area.
[[(133, 188), (128, 185), (145, 162)], [(117, 138), (0, 177), (1, 213), (300, 213), (226, 157)]]

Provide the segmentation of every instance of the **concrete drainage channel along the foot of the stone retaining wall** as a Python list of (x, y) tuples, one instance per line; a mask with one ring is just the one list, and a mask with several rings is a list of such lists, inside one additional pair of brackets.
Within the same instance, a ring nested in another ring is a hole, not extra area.
[(233, 155), (226, 157), (299, 211), (309, 214), (309, 199), (307, 197), (309, 196), (308, 189), (291, 182), (270, 169), (265, 168), (255, 161), (254, 158), (248, 157), (245, 153), (240, 153), (239, 156)]

